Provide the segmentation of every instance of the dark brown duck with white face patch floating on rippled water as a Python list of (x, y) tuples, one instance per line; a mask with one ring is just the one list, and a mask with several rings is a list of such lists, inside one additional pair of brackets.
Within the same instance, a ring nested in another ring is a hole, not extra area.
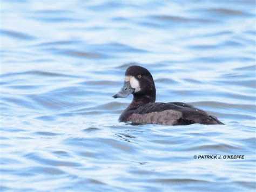
[(120, 115), (120, 122), (132, 124), (190, 125), (221, 124), (217, 118), (184, 102), (154, 102), (156, 88), (151, 73), (144, 67), (130, 66), (125, 72), (124, 86), (113, 98), (133, 94), (131, 104)]

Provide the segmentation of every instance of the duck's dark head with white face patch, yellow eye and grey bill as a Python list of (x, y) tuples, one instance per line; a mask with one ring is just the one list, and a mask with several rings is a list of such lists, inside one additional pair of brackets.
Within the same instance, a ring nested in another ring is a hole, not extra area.
[(156, 99), (156, 88), (151, 73), (144, 67), (133, 65), (126, 69), (124, 85), (113, 98), (126, 98), (129, 94), (134, 97)]

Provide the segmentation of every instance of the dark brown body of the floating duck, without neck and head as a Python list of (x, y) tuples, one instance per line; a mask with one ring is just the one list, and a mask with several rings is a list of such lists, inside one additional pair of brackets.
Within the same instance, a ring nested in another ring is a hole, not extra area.
[(183, 102), (152, 102), (136, 109), (128, 109), (120, 116), (120, 121), (133, 124), (190, 125), (221, 124), (217, 118)]

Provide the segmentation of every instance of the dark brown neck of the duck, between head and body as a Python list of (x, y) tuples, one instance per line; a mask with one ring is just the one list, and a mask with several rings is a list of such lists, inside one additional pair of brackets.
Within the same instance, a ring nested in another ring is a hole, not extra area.
[(133, 94), (133, 100), (127, 109), (138, 108), (139, 106), (149, 104), (150, 102), (156, 101), (156, 91), (151, 93)]

